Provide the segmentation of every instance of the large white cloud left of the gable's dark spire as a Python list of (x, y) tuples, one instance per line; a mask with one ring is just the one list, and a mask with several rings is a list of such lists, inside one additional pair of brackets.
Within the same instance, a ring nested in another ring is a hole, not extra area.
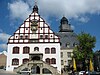
[(20, 18), (23, 20), (28, 17), (29, 13), (31, 13), (29, 5), (22, 0), (17, 0), (13, 3), (8, 3), (8, 7), (12, 19)]

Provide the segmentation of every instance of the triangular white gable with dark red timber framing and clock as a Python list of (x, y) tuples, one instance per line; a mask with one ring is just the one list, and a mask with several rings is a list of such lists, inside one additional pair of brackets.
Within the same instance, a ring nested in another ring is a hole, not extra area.
[(40, 15), (33, 11), (24, 21), (8, 43), (57, 43), (59, 37), (50, 29), (48, 24)]

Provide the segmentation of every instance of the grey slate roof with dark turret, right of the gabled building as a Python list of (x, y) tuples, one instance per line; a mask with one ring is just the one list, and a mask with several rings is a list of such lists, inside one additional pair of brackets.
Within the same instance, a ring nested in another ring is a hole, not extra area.
[(66, 17), (62, 17), (60, 22), (60, 30), (56, 33), (60, 38), (60, 45), (62, 49), (65, 48), (74, 48), (78, 44), (77, 34), (71, 28), (71, 25), (68, 24)]

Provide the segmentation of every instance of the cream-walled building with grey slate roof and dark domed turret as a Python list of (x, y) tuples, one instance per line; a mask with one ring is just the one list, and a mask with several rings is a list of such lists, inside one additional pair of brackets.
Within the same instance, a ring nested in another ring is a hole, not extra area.
[(73, 48), (78, 45), (77, 35), (71, 28), (66, 17), (62, 17), (59, 32), (61, 48), (61, 68), (72, 65)]

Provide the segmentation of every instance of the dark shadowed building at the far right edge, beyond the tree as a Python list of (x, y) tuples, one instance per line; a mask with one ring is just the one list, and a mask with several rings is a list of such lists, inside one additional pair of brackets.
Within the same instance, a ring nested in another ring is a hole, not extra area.
[(100, 50), (94, 53), (94, 70), (100, 72)]

